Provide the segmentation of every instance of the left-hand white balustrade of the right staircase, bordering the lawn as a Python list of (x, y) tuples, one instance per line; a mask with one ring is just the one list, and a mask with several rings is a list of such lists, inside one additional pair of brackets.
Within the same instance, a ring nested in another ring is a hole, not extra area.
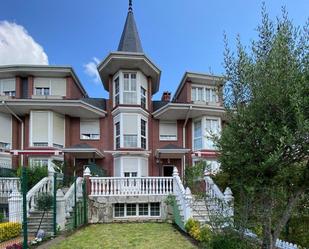
[(180, 211), (183, 212), (184, 222), (186, 222), (192, 217), (192, 194), (188, 187), (186, 189), (184, 188), (176, 167), (174, 167), (173, 171), (173, 181), (174, 195), (180, 207)]

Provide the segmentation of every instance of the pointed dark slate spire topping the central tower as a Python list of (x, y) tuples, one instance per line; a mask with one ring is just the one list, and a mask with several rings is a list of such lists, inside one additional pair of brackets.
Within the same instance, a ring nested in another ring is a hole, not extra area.
[(131, 6), (129, 7), (126, 23), (122, 31), (118, 51), (143, 53)]

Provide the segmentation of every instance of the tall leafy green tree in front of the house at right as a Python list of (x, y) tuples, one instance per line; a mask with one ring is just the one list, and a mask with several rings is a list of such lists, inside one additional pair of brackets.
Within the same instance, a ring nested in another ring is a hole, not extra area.
[(262, 248), (274, 248), (309, 187), (309, 22), (276, 21), (262, 7), (258, 38), (248, 48), (225, 37), (227, 125), (217, 145), (224, 173), (241, 199), (245, 226), (262, 225)]

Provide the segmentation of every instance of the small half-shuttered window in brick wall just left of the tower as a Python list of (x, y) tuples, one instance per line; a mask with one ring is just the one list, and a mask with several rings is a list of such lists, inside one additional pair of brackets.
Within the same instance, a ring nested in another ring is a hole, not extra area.
[(80, 120), (80, 139), (98, 140), (100, 139), (100, 120), (81, 119)]

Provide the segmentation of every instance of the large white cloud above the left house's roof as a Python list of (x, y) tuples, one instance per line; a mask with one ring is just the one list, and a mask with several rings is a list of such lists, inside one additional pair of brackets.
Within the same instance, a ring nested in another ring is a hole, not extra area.
[(16, 23), (0, 21), (0, 65), (48, 65), (44, 49)]

